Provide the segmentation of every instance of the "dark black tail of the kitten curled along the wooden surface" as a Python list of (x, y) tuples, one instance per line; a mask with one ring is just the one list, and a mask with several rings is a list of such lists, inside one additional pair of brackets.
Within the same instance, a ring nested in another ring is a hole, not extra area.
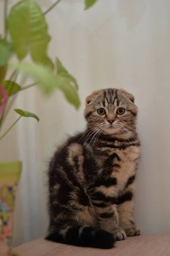
[(51, 233), (45, 239), (62, 244), (101, 249), (111, 249), (115, 242), (113, 235), (108, 231), (89, 226), (67, 227), (59, 230), (58, 233)]

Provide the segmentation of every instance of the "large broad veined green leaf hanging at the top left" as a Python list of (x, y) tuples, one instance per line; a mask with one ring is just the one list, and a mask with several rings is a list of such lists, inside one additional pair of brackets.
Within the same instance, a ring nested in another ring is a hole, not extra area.
[(51, 38), (37, 3), (23, 0), (15, 4), (8, 17), (8, 29), (20, 60), (31, 52), (34, 61), (46, 64), (47, 46)]

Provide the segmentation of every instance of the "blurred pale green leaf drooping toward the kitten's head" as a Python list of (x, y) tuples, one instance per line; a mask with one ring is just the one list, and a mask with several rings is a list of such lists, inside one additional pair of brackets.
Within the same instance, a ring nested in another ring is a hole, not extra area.
[(68, 102), (79, 108), (80, 101), (77, 90), (65, 76), (55, 76), (50, 69), (36, 63), (13, 64), (12, 67), (34, 78), (46, 94), (53, 92), (55, 88), (62, 90)]

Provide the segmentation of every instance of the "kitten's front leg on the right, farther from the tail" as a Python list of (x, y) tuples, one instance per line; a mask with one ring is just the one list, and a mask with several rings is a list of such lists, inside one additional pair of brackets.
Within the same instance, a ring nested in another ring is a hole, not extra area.
[(130, 183), (118, 199), (119, 224), (127, 236), (140, 235), (140, 228), (135, 223), (133, 216), (133, 194), (134, 183)]

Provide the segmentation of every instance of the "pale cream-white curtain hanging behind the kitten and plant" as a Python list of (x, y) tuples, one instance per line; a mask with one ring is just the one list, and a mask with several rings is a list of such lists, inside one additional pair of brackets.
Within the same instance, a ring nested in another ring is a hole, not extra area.
[[(45, 10), (54, 1), (37, 2)], [(83, 2), (63, 0), (47, 15), (49, 55), (53, 60), (58, 56), (77, 78), (79, 111), (60, 92), (45, 99), (32, 88), (17, 98), (16, 107), (36, 113), (40, 122), (22, 118), (16, 131), (18, 146), (12, 144), (23, 160), (15, 244), (45, 234), (48, 160), (65, 134), (83, 131), (85, 97), (107, 87), (133, 93), (139, 107), (142, 159), (136, 220), (142, 233), (170, 233), (170, 0), (98, 0), (88, 11)], [(4, 150), (9, 143), (10, 134)]]

